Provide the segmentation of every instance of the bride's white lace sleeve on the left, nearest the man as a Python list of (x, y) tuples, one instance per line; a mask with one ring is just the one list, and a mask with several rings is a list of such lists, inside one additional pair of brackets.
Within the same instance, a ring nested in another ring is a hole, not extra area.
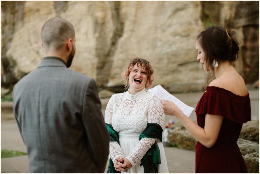
[[(114, 108), (114, 97), (112, 96), (106, 105), (105, 111), (105, 123), (112, 124), (112, 117), (113, 117), (113, 108)], [(122, 156), (123, 152), (120, 145), (116, 141), (109, 142), (109, 156), (113, 163), (118, 156)]]

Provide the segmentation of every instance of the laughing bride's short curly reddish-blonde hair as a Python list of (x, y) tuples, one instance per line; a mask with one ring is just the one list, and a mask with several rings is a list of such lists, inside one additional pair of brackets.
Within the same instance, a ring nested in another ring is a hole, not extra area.
[(145, 88), (150, 88), (152, 85), (152, 81), (154, 80), (153, 78), (153, 73), (154, 70), (152, 68), (152, 66), (149, 64), (149, 62), (146, 59), (142, 59), (142, 58), (134, 58), (132, 59), (129, 64), (127, 66), (124, 67), (124, 70), (122, 72), (122, 77), (124, 79), (125, 82), (125, 90), (127, 90), (127, 88), (129, 88), (129, 74), (133, 68), (133, 66), (137, 64), (137, 66), (141, 66), (143, 70), (146, 71), (147, 73), (147, 81), (145, 84)]

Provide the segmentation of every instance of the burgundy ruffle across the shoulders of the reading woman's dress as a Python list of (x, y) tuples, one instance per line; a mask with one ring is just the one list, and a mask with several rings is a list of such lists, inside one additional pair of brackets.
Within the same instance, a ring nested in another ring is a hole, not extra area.
[(239, 96), (223, 88), (207, 87), (195, 112), (197, 115), (221, 115), (233, 122), (245, 123), (251, 120), (249, 93)]

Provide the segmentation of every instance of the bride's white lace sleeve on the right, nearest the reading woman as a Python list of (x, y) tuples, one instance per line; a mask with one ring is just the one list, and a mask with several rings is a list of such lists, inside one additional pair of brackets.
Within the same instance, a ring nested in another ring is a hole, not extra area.
[[(156, 96), (150, 100), (147, 119), (148, 123), (158, 123), (163, 126), (165, 114), (160, 101)], [(133, 151), (126, 157), (132, 166), (135, 166), (143, 158), (156, 140), (155, 138), (142, 138), (139, 140)]]

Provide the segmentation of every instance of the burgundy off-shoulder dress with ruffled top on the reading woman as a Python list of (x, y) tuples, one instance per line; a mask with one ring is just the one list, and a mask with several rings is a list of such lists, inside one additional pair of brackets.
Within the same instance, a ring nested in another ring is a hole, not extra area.
[(196, 107), (198, 125), (204, 128), (205, 115), (224, 117), (213, 147), (196, 146), (196, 173), (247, 173), (237, 146), (243, 123), (251, 120), (249, 93), (236, 95), (219, 87), (207, 87)]

